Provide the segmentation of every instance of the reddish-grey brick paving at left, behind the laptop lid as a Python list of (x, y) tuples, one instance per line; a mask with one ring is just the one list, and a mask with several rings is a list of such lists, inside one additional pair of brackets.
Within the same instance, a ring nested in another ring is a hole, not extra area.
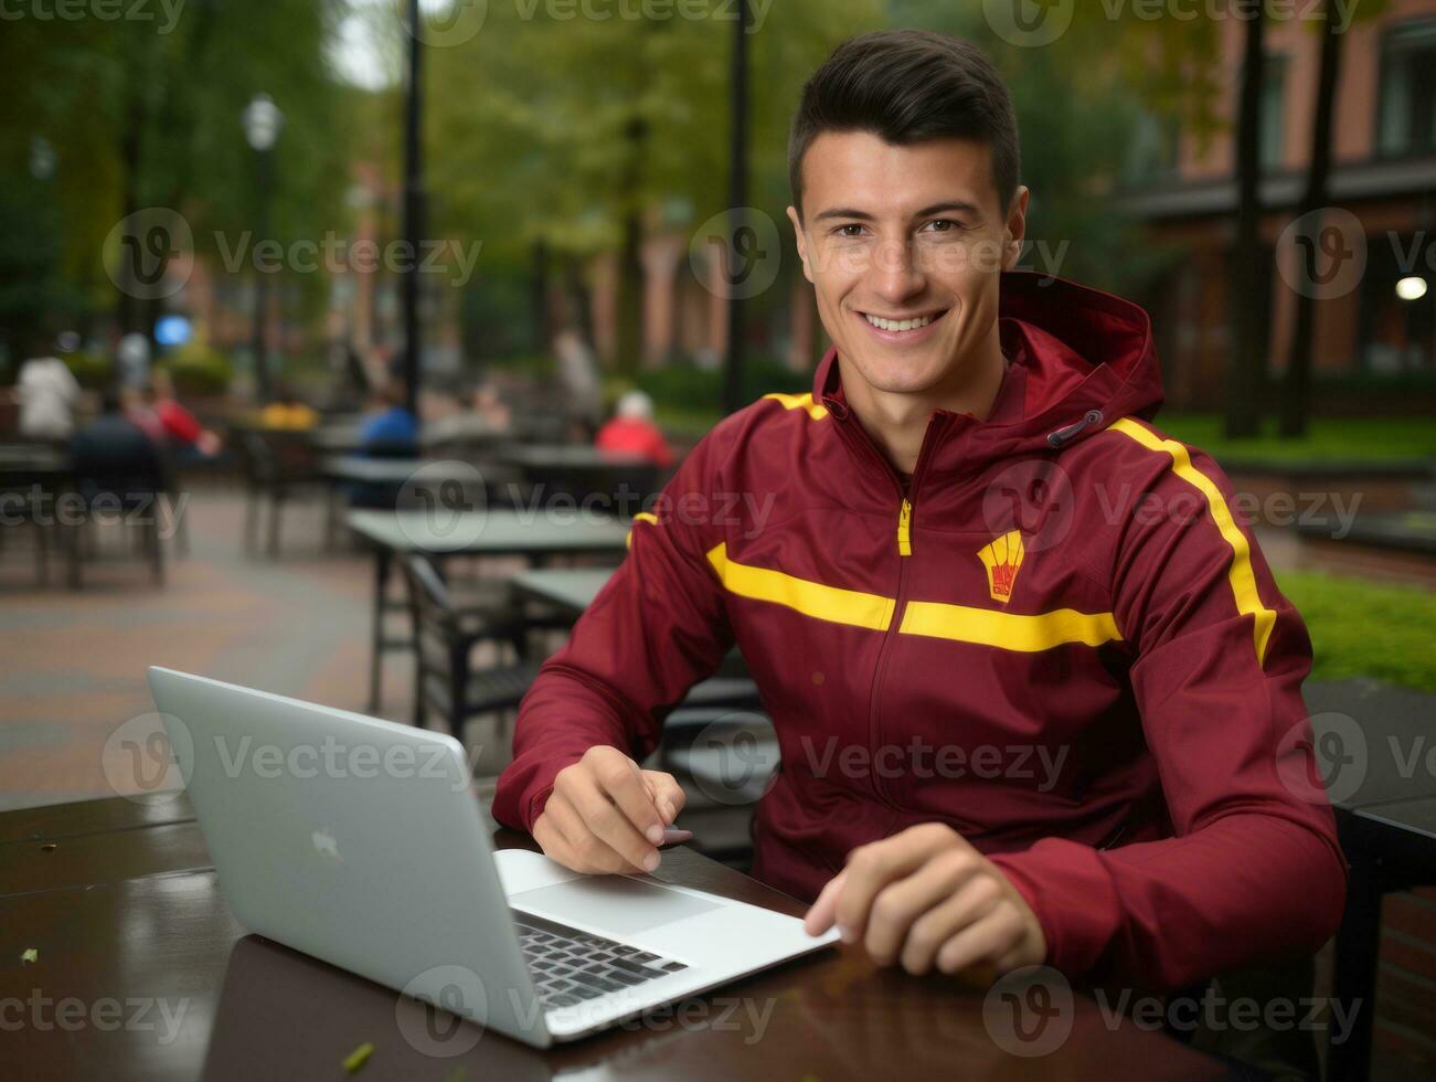
[[(151, 664), (363, 710), (370, 562), (322, 555), (317, 507), (286, 513), (286, 555), (241, 555), (243, 500), (200, 493), (188, 507), (190, 556), (168, 583), (115, 550), (86, 568), (80, 592), (36, 586), (20, 545), (0, 555), (0, 809), (112, 796), (102, 756), (109, 734), (154, 711)], [(55, 575), (52, 581), (60, 579)], [(405, 720), (411, 671), (391, 655), (381, 714)]]

